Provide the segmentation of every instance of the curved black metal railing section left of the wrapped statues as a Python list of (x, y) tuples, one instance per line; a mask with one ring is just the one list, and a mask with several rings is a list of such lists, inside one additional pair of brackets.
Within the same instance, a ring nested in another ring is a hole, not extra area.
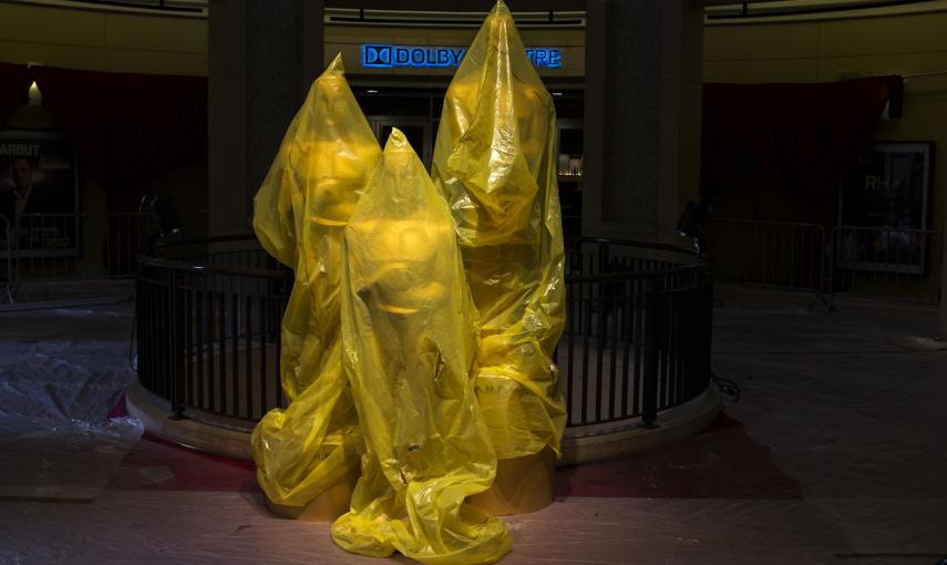
[(292, 274), (249, 237), (181, 242), (162, 257), (138, 257), (138, 380), (177, 418), (197, 409), (257, 420), (285, 405), (279, 332)]

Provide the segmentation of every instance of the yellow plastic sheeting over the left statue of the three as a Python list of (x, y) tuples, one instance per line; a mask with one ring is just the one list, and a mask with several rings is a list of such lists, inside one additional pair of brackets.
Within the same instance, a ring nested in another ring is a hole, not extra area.
[(292, 267), (280, 372), (290, 404), (251, 442), (257, 480), (278, 504), (303, 506), (358, 472), (358, 417), (342, 371), (343, 230), (381, 148), (344, 79), (341, 55), (312, 84), (254, 199), (263, 246)]

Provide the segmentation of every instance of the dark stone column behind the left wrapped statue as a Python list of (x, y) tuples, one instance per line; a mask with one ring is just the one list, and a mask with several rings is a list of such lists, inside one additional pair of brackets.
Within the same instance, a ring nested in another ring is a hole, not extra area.
[(210, 235), (250, 230), (253, 197), (322, 70), (322, 0), (210, 0)]

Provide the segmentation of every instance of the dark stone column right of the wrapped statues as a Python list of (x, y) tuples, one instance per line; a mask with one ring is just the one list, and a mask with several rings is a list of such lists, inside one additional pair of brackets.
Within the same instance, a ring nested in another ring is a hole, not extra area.
[(673, 240), (700, 181), (703, 9), (587, 0), (583, 232)]

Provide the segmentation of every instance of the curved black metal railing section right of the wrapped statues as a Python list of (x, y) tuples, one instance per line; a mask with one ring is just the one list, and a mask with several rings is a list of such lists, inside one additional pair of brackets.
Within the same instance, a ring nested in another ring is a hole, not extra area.
[(566, 254), (566, 329), (556, 350), (568, 424), (641, 418), (710, 383), (710, 266), (677, 247), (580, 239)]

